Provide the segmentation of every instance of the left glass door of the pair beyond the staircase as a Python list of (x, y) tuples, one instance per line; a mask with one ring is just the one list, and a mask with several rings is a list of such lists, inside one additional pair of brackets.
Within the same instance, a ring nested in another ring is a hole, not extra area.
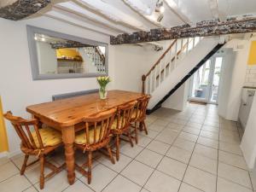
[(211, 61), (208, 60), (202, 65), (193, 75), (191, 84), (191, 100), (199, 100), (207, 102), (209, 92), (209, 75), (210, 75)]

